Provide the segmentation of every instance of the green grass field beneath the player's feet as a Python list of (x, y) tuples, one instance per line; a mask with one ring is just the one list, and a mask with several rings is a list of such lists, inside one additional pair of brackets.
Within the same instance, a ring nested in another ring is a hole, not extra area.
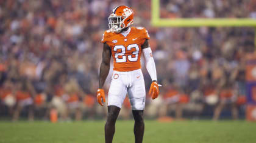
[[(145, 143), (256, 142), (256, 123), (246, 121), (145, 121)], [(1, 143), (104, 142), (104, 121), (0, 122)], [(134, 142), (133, 121), (117, 121), (113, 142)]]

